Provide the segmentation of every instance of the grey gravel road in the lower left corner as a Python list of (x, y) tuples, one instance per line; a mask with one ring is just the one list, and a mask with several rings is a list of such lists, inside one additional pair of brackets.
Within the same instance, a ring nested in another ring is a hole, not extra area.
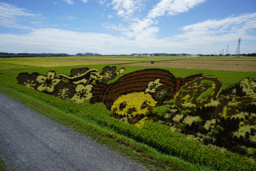
[(144, 170), (0, 92), (0, 155), (18, 170)]

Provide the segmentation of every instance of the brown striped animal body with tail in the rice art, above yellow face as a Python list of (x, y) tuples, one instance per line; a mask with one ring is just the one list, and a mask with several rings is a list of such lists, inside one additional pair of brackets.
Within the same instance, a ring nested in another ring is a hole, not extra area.
[(201, 74), (189, 76), (185, 79), (175, 78), (167, 70), (145, 69), (124, 75), (113, 84), (96, 84), (92, 89), (91, 103), (102, 102), (107, 109), (121, 95), (145, 92), (151, 94), (152, 98), (161, 105), (164, 101), (170, 100), (187, 82), (202, 77)]

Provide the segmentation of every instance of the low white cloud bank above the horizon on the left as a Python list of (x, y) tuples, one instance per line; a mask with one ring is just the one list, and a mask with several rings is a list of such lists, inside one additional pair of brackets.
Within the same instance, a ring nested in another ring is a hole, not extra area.
[[(55, 28), (33, 29), (30, 33), (22, 35), (0, 34), (0, 39), (0, 51), (14, 51), (13, 47), (16, 47), (17, 52), (26, 48), (31, 53), (65, 51), (68, 54), (85, 51), (104, 53), (108, 48), (128, 45), (127, 42), (129, 42), (126, 38), (109, 34), (80, 33)], [(115, 52), (112, 51), (110, 54), (113, 53)]]

